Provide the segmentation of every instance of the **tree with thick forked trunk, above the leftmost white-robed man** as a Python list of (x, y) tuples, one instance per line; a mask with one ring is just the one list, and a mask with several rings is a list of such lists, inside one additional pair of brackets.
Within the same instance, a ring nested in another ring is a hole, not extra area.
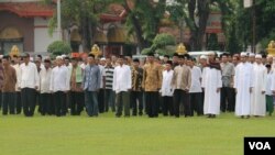
[(232, 13), (231, 0), (175, 0), (176, 2), (167, 7), (172, 14), (172, 20), (176, 23), (185, 21), (191, 31), (190, 47), (191, 51), (202, 48), (204, 35), (206, 33), (207, 20), (213, 9), (222, 12), (222, 26), (224, 26), (227, 14)]

